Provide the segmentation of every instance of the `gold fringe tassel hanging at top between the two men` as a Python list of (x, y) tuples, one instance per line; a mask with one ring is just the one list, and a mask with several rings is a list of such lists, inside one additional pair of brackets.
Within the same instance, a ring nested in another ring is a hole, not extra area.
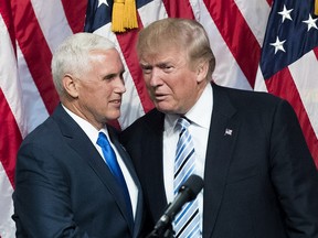
[(138, 28), (135, 0), (115, 0), (112, 15), (112, 31), (126, 32), (126, 29)]

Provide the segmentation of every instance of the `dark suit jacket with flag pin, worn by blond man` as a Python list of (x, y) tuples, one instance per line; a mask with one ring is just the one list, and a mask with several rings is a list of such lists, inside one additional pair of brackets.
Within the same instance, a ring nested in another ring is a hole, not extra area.
[[(292, 107), (268, 94), (212, 86), (203, 237), (317, 238), (317, 170)], [(120, 136), (152, 226), (167, 207), (163, 119), (155, 109)]]

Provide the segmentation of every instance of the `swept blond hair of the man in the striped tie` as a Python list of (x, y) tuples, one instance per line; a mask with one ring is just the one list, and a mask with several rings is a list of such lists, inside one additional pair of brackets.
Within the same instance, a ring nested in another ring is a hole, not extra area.
[(187, 51), (190, 67), (209, 62), (208, 77), (211, 77), (215, 57), (208, 34), (198, 21), (167, 18), (152, 22), (139, 32), (137, 54), (140, 58), (144, 54), (156, 54), (171, 45)]

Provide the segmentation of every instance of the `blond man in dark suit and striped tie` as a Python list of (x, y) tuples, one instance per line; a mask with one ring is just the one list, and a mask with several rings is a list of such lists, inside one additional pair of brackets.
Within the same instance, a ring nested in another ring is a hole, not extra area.
[(120, 138), (139, 175), (150, 227), (176, 196), (176, 125), (186, 117), (193, 173), (204, 186), (197, 197), (199, 230), (186, 224), (178, 237), (317, 238), (317, 170), (289, 104), (211, 83), (215, 60), (195, 21), (151, 23), (139, 33), (137, 53), (156, 108)]

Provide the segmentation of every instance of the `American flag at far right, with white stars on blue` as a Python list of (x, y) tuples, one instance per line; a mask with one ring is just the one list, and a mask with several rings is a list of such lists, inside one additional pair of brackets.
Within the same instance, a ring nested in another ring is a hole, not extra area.
[(294, 106), (318, 166), (318, 19), (314, 7), (311, 0), (274, 1), (261, 71), (268, 91)]

